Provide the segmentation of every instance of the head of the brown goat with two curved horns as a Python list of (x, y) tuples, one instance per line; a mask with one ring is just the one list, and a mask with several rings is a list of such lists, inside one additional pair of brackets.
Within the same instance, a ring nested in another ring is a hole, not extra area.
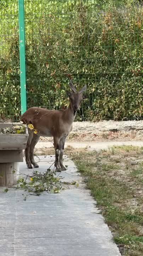
[(70, 107), (74, 113), (80, 108), (81, 102), (85, 99), (85, 96), (82, 95), (84, 91), (86, 91), (86, 85), (77, 92), (72, 81), (69, 82), (69, 86), (72, 92), (67, 91), (68, 97), (70, 99)]

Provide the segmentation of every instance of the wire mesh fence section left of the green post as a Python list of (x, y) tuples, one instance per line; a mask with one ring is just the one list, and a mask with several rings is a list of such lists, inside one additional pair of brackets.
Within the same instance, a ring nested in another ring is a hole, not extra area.
[(18, 1), (0, 1), (0, 119), (20, 115)]

